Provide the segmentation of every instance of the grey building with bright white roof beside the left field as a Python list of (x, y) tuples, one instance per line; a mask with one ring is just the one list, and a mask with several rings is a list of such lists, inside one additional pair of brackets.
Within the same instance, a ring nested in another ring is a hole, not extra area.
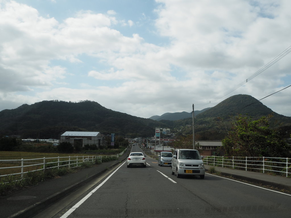
[(100, 132), (72, 132), (66, 131), (61, 135), (61, 142), (70, 142), (71, 144), (95, 144), (97, 147), (102, 145), (102, 135)]

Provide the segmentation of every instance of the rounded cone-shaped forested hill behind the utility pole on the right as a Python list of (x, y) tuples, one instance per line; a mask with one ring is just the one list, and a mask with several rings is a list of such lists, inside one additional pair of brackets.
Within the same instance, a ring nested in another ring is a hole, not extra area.
[[(272, 111), (250, 95), (238, 94), (195, 117), (196, 137), (200, 140), (221, 140), (225, 136), (222, 132), (226, 129), (230, 130), (233, 117), (239, 114), (254, 120), (272, 114), (273, 117), (269, 120), (270, 128), (278, 129), (282, 136), (285, 134), (285, 137), (289, 137), (291, 133), (291, 117)], [(192, 134), (192, 118), (175, 121), (161, 120), (161, 122), (172, 126), (180, 134)]]

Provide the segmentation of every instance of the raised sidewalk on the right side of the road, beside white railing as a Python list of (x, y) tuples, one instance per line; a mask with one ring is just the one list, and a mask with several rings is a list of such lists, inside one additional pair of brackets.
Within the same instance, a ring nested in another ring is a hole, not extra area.
[[(144, 149), (145, 153), (149, 155), (149, 149)], [(150, 155), (152, 158), (158, 158), (158, 156)], [(207, 172), (210, 165), (204, 165)], [(284, 176), (273, 176), (269, 174), (263, 174), (258, 172), (251, 172), (238, 169), (230, 169), (225, 167), (215, 167), (216, 171), (220, 172), (222, 176), (232, 177), (238, 180), (247, 181), (256, 185), (263, 185), (272, 189), (285, 190), (291, 192), (291, 178)]]

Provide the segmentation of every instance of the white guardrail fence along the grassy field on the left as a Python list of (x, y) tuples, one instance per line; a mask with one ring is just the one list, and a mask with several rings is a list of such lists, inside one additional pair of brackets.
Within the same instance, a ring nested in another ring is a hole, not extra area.
[[(35, 159), (19, 159), (19, 160), (0, 160), (0, 163), (7, 163), (11, 165), (19, 165), (13, 167), (0, 167), (0, 177), (20, 175), (33, 171), (59, 168), (67, 166), (68, 168), (80, 167), (83, 162), (98, 162), (102, 163), (102, 158), (119, 157), (126, 151), (122, 151), (119, 154), (107, 155), (107, 156), (69, 156), (69, 157), (54, 157), (54, 158), (35, 158)], [(51, 162), (50, 162), (51, 161)], [(2, 169), (18, 168), (19, 173), (1, 175)], [(27, 169), (27, 170), (26, 170)]]

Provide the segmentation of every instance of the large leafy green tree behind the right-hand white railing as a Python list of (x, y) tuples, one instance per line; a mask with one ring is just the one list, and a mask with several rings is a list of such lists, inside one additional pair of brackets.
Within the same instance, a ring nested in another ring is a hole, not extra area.
[(290, 157), (291, 146), (269, 128), (272, 115), (252, 120), (238, 115), (231, 122), (231, 131), (222, 140), (220, 152), (226, 156)]

